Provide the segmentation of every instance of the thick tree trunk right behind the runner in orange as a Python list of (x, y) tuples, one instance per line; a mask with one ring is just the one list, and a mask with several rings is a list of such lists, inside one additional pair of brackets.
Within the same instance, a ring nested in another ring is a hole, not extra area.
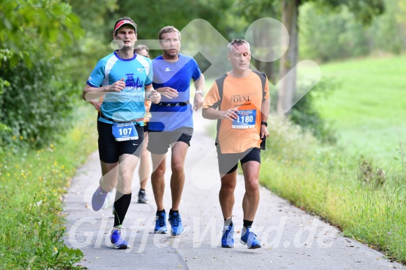
[[(297, 64), (297, 13), (299, 0), (283, 0), (282, 3), (282, 23), (288, 29), (288, 44), (282, 44), (288, 47), (286, 53), (282, 56), (279, 65), (279, 92), (277, 112), (279, 114), (289, 113), (292, 109), (293, 95), (296, 91), (296, 69)], [(282, 31), (283, 32), (283, 31)]]

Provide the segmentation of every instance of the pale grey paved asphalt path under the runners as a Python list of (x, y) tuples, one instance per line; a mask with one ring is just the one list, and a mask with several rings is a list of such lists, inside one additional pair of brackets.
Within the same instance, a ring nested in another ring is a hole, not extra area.
[[(156, 205), (150, 181), (149, 204), (136, 203), (139, 180), (134, 175), (132, 203), (124, 221), (123, 237), (132, 248), (109, 247), (114, 218), (111, 207), (94, 212), (91, 196), (101, 176), (98, 153), (77, 170), (65, 197), (65, 243), (80, 248), (88, 269), (393, 269), (382, 253), (341, 236), (317, 216), (306, 214), (286, 200), (260, 188), (260, 204), (253, 229), (263, 247), (249, 250), (240, 244), (244, 179), (238, 177), (233, 221), (235, 248), (221, 248), (223, 219), (219, 206), (219, 175), (213, 138), (208, 135), (212, 121), (194, 113), (195, 132), (185, 164), (185, 189), (180, 204), (185, 234), (180, 237), (155, 235)], [(170, 166), (166, 175), (164, 203), (171, 207)], [(169, 225), (169, 224), (168, 224)], [(170, 230), (170, 226), (169, 226)], [(405, 267), (403, 267), (405, 268)]]

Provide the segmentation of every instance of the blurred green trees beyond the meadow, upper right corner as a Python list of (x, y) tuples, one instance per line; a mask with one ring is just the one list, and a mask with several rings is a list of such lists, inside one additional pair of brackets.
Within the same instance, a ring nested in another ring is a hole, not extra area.
[(299, 10), (300, 57), (324, 62), (375, 52), (400, 54), (406, 49), (406, 4), (383, 3), (384, 13), (370, 24), (363, 24), (351, 8), (330, 10), (312, 1), (304, 3)]

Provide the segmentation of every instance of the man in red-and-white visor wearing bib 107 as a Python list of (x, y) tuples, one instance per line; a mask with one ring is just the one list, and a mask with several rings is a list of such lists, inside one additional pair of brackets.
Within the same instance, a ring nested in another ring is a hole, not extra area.
[(97, 63), (82, 97), (94, 101), (104, 96), (97, 125), (102, 177), (93, 194), (92, 207), (99, 211), (107, 193), (117, 189), (110, 240), (114, 248), (125, 249), (129, 246), (121, 238), (120, 229), (130, 206), (132, 175), (142, 149), (144, 101), (159, 103), (161, 95), (153, 90), (150, 59), (134, 54), (134, 21), (129, 17), (118, 19), (113, 38), (120, 49)]

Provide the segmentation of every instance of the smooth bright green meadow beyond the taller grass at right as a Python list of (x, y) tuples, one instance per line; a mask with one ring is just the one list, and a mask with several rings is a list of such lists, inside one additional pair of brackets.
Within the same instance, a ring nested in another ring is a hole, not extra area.
[(338, 143), (350, 153), (388, 160), (406, 140), (406, 56), (321, 65), (322, 77), (341, 82), (316, 106), (334, 121)]

